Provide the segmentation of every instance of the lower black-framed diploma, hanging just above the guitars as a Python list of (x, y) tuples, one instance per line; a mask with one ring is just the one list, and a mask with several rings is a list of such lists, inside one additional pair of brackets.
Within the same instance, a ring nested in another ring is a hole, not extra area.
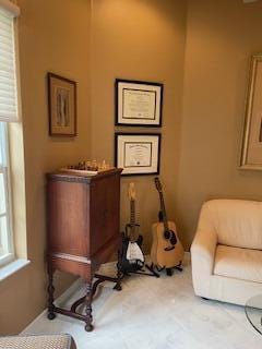
[(123, 176), (158, 174), (159, 133), (116, 133), (115, 165)]

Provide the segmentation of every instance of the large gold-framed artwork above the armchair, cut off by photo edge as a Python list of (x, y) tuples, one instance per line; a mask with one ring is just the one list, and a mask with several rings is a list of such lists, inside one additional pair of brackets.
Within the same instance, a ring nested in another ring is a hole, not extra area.
[(240, 168), (262, 170), (262, 56), (251, 60)]

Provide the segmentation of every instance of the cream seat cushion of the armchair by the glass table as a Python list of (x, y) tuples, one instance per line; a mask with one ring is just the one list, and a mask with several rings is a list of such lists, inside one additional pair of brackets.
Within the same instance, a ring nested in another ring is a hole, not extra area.
[(262, 284), (262, 251), (218, 244), (214, 275)]

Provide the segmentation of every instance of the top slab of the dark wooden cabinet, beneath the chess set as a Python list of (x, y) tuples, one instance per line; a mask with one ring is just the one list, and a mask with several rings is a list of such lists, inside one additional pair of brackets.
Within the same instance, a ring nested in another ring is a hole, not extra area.
[(83, 171), (70, 171), (70, 170), (58, 170), (55, 172), (46, 173), (46, 178), (48, 180), (55, 181), (64, 181), (64, 182), (81, 182), (81, 183), (90, 183), (93, 181), (97, 181), (105, 177), (120, 174), (122, 172), (121, 168), (111, 168), (109, 170), (99, 171), (95, 174), (86, 173)]

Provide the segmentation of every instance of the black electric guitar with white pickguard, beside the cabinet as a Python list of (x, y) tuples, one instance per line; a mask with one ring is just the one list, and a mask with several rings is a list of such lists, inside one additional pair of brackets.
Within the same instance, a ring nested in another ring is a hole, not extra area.
[(144, 266), (144, 256), (141, 251), (143, 237), (139, 234), (140, 225), (135, 222), (135, 191), (134, 183), (129, 184), (130, 222), (126, 225), (122, 238), (120, 268), (122, 273), (135, 273)]

